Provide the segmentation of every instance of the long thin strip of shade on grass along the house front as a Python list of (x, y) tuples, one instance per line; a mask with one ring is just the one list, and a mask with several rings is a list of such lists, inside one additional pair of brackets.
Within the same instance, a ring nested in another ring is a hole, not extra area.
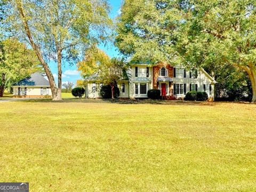
[(181, 100), (151, 100), (151, 99), (62, 99), (61, 101), (52, 101), (52, 99), (29, 99), (19, 100), (20, 102), (53, 102), (53, 103), (115, 103), (121, 105), (136, 105), (136, 104), (150, 104), (150, 105), (189, 105), (189, 106), (215, 106), (216, 102), (199, 102), (199, 101), (181, 101)]

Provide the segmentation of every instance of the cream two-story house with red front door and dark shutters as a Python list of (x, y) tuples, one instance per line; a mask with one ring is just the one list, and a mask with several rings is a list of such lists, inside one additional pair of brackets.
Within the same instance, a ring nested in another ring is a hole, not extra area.
[[(147, 98), (150, 89), (158, 89), (166, 99), (183, 99), (189, 91), (205, 91), (214, 100), (215, 80), (203, 68), (189, 70), (164, 63), (132, 64), (124, 81), (118, 82), (120, 98)], [(86, 78), (86, 97), (100, 98), (102, 83), (97, 77)]]

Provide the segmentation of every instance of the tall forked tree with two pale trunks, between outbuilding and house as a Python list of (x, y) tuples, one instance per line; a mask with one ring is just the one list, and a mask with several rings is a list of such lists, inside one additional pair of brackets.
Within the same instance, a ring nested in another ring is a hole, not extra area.
[[(11, 0), (5, 26), (29, 42), (49, 79), (53, 100), (61, 99), (62, 63), (77, 62), (86, 46), (104, 41), (111, 26), (107, 0)], [(49, 67), (58, 66), (58, 87)]]

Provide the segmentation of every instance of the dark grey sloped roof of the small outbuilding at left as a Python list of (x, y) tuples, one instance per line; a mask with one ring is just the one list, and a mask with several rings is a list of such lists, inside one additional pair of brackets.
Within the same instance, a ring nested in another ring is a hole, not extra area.
[(29, 77), (12, 84), (12, 86), (50, 86), (50, 83), (43, 77), (43, 75), (36, 72), (31, 74)]

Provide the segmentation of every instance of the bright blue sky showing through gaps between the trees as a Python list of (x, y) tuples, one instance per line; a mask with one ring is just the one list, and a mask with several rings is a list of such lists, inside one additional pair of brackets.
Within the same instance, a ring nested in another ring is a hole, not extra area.
[[(111, 13), (110, 17), (111, 18), (116, 18), (118, 15), (118, 12), (121, 7), (122, 0), (109, 0), (109, 3), (111, 5)], [(118, 51), (116, 47), (112, 44), (108, 44), (107, 46), (100, 45), (100, 49), (105, 51), (110, 57), (117, 57), (118, 56)], [(55, 82), (57, 83), (57, 77), (58, 77), (58, 69), (57, 69), (57, 64), (56, 63), (50, 63), (50, 68), (52, 70), (53, 76), (55, 78)], [(65, 83), (67, 81), (69, 82), (74, 82), (76, 84), (76, 80), (81, 79), (81, 76), (79, 72), (77, 71), (76, 66), (69, 66), (67, 63), (63, 63), (62, 66), (62, 83)]]

